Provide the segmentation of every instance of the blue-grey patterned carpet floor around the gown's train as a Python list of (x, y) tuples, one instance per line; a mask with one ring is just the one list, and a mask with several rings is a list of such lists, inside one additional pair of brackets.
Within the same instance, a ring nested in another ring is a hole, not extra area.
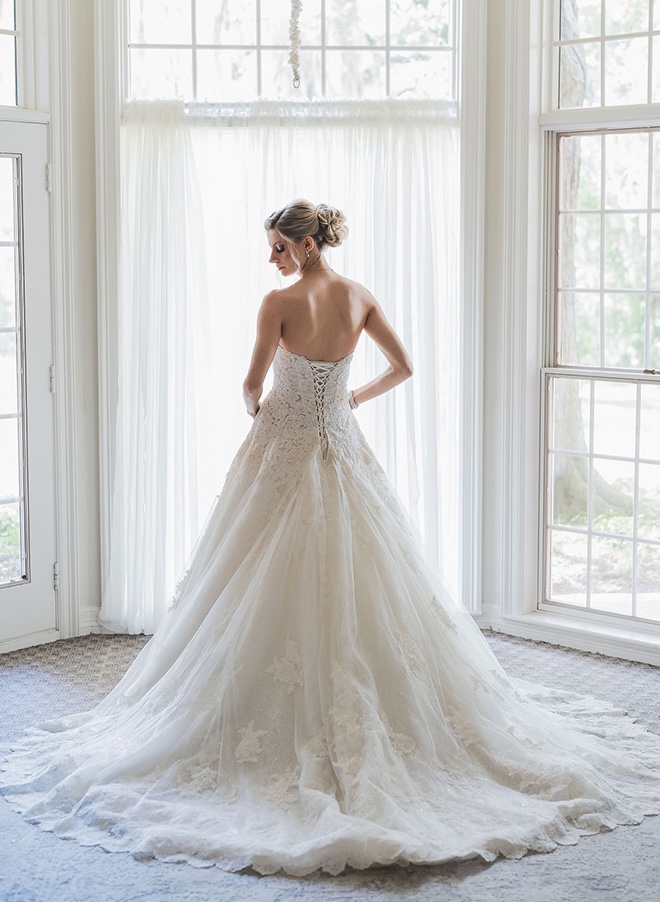
[[(594, 695), (660, 733), (660, 668), (486, 633), (512, 676)], [(84, 636), (0, 655), (0, 743), (98, 702), (147, 640)], [(520, 861), (261, 877), (140, 862), (44, 833), (0, 798), (3, 902), (638, 902), (659, 898), (660, 818)]]

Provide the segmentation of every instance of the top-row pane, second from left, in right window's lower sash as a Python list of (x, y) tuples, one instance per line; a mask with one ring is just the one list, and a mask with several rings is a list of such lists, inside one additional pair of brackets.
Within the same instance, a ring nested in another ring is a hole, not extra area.
[(635, 456), (637, 387), (632, 382), (594, 381), (594, 453)]

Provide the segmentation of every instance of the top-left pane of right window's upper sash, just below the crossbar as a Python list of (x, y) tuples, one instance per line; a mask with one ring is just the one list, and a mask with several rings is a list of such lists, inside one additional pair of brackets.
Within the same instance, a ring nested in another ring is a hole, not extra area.
[(560, 210), (600, 209), (602, 143), (600, 135), (562, 138)]

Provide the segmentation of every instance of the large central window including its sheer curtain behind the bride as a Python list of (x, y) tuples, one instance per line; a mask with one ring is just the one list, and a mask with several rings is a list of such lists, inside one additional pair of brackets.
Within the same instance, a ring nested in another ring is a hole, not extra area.
[[(245, 436), (240, 385), (261, 297), (278, 285), (263, 222), (295, 197), (346, 213), (330, 265), (373, 291), (415, 361), (414, 386), (365, 405), (360, 423), (461, 591), (457, 7), (304, 2), (295, 88), (289, 0), (125, 0), (104, 622), (151, 628)], [(385, 365), (365, 338), (353, 384)]]

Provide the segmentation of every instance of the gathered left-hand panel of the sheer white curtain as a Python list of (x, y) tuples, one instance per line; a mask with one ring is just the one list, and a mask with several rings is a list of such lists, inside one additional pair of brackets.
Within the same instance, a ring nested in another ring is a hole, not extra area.
[(131, 105), (121, 136), (117, 410), (99, 619), (117, 632), (151, 633), (199, 530), (200, 465), (217, 453), (204, 425), (213, 373), (183, 104)]

